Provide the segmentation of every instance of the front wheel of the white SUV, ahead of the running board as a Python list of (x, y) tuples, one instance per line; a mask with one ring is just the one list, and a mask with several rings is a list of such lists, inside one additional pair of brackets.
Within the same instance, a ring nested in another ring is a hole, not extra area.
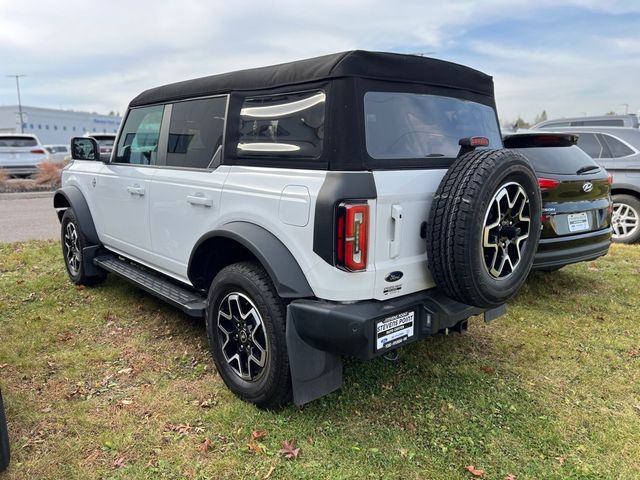
[(104, 281), (107, 272), (100, 275), (87, 275), (85, 272), (83, 249), (90, 244), (82, 232), (73, 208), (67, 208), (62, 216), (60, 241), (64, 265), (73, 283), (90, 286)]

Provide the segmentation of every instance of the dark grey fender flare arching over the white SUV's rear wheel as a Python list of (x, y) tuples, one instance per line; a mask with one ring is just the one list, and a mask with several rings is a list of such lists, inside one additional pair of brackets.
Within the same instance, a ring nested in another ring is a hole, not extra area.
[(282, 298), (308, 298), (314, 293), (297, 260), (274, 234), (255, 223), (235, 221), (205, 233), (194, 246), (189, 257), (191, 278), (194, 255), (200, 245), (214, 237), (225, 237), (249, 250), (265, 268)]

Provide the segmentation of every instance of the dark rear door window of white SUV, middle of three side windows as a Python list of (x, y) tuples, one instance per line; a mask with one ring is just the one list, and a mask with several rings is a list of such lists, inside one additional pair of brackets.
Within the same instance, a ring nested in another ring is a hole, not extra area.
[(222, 152), (227, 97), (173, 104), (167, 166), (210, 168)]

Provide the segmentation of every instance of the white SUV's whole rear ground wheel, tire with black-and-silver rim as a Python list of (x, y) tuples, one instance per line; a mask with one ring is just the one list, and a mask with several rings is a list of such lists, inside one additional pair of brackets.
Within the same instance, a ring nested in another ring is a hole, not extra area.
[(260, 408), (291, 399), (285, 319), (285, 304), (259, 264), (236, 263), (214, 278), (206, 320), (214, 362), (227, 387)]

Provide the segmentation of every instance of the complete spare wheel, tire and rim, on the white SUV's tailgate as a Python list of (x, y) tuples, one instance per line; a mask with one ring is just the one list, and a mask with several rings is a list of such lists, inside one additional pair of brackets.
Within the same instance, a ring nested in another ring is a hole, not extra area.
[(446, 173), (427, 223), (428, 265), (445, 293), (491, 308), (518, 291), (540, 238), (540, 188), (511, 150), (475, 150)]

